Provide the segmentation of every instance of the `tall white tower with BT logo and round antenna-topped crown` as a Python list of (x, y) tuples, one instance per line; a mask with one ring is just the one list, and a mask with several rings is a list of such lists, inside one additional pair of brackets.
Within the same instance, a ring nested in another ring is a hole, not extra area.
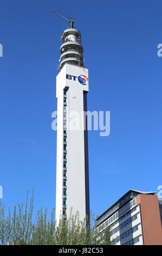
[(81, 33), (73, 28), (62, 33), (60, 71), (56, 77), (57, 170), (56, 220), (79, 211), (89, 216), (87, 112), (88, 69), (84, 67)]

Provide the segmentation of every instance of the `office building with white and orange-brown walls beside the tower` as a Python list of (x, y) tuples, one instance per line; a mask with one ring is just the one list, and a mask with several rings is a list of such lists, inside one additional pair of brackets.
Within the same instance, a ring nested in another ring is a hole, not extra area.
[(98, 236), (109, 227), (115, 245), (162, 245), (162, 200), (155, 193), (129, 190), (96, 219)]

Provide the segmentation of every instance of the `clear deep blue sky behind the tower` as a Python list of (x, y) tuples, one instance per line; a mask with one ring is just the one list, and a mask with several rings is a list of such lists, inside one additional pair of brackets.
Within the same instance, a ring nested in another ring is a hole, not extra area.
[(111, 133), (88, 132), (90, 209), (100, 215), (130, 189), (161, 179), (160, 0), (1, 1), (0, 185), (11, 208), (35, 187), (35, 210), (55, 207), (56, 75), (73, 17), (89, 68), (89, 111), (111, 111)]

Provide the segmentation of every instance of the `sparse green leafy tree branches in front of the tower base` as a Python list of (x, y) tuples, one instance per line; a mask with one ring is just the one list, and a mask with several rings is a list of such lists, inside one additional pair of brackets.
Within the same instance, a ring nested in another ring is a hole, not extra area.
[(54, 209), (47, 220), (47, 209), (43, 213), (41, 208), (33, 221), (33, 194), (28, 205), (27, 192), (25, 208), (23, 204), (15, 206), (12, 216), (9, 208), (5, 217), (4, 205), (0, 204), (0, 245), (111, 245), (111, 231), (106, 228), (99, 235), (92, 212), (89, 219), (80, 221), (79, 212), (73, 215), (71, 209), (67, 220), (60, 216), (56, 222)]

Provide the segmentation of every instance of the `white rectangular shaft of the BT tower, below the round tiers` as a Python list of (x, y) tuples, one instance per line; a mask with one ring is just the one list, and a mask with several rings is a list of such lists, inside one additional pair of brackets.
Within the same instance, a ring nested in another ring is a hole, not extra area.
[[(72, 80), (69, 80), (66, 75), (75, 76), (75, 78), (72, 77)], [(60, 214), (63, 213), (63, 89), (69, 88), (67, 93), (67, 126), (69, 126), (68, 117), (72, 111), (83, 115), (83, 91), (88, 92), (88, 81), (86, 81), (87, 85), (82, 85), (77, 78), (80, 75), (88, 77), (88, 69), (66, 63), (56, 78), (56, 220), (59, 220)], [(86, 217), (85, 133), (84, 124), (81, 126), (80, 130), (67, 129), (67, 218), (70, 209), (73, 208), (73, 214), (79, 211), (80, 220), (83, 220)]]

